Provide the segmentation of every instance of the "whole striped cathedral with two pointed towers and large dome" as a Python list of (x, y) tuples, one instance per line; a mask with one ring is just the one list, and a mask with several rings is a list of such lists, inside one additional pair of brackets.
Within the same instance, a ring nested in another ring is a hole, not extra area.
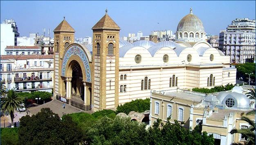
[(154, 91), (236, 83), (230, 56), (205, 41), (192, 9), (180, 20), (175, 42), (129, 43), (119, 40), (120, 30), (106, 12), (92, 27), (92, 45), (81, 45), (74, 43), (75, 30), (64, 17), (54, 29), (54, 97), (97, 111)]

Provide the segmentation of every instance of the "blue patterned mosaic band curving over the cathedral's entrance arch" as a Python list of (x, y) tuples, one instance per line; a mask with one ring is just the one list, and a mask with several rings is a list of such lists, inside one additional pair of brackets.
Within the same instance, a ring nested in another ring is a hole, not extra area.
[(83, 65), (85, 67), (86, 81), (91, 82), (91, 70), (90, 70), (89, 61), (88, 61), (87, 55), (85, 54), (85, 51), (79, 45), (72, 45), (65, 52), (64, 58), (63, 58), (63, 63), (62, 63), (61, 75), (65, 76), (66, 67), (68, 65), (67, 61), (69, 60), (69, 58), (72, 55), (79, 56), (79, 58), (81, 59), (81, 61), (83, 62)]

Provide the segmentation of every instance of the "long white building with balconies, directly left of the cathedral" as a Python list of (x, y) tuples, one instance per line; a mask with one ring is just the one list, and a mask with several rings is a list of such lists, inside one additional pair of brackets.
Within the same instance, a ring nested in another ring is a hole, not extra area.
[(16, 91), (52, 92), (53, 55), (1, 55), (0, 79)]

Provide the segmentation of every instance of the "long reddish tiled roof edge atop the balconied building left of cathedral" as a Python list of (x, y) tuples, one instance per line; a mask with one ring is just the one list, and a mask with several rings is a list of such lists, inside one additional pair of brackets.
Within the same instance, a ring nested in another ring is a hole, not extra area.
[(1, 55), (1, 60), (15, 59), (15, 60), (26, 60), (26, 59), (53, 59), (53, 55)]

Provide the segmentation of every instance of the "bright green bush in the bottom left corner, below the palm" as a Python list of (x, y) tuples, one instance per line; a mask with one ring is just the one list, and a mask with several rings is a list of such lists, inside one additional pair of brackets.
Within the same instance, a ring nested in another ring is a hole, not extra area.
[(1, 128), (1, 145), (18, 145), (18, 128)]

